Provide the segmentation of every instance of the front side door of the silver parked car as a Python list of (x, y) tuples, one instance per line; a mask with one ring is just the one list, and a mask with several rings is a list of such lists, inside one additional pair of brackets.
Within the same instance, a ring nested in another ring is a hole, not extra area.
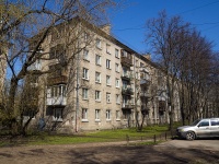
[(204, 119), (197, 125), (197, 137), (210, 137), (209, 119)]

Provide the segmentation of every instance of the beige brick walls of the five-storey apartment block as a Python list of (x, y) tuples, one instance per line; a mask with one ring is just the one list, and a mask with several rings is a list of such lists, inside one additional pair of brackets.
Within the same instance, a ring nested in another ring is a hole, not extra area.
[[(145, 125), (168, 122), (168, 96), (164, 92), (158, 94), (159, 89), (165, 86), (160, 86), (158, 82), (159, 69), (151, 63), (148, 56), (145, 58), (137, 55), (122, 43), (112, 39), (112, 37), (105, 37), (108, 35), (104, 32), (94, 33), (88, 30), (85, 30), (85, 32), (92, 35), (91, 42), (89, 45), (85, 45), (83, 38), (84, 33), (80, 32), (81, 37), (79, 37), (80, 39), (77, 44), (78, 48), (82, 50), (74, 55), (72, 62), (68, 62), (65, 74), (62, 74), (67, 77), (67, 80), (55, 83), (56, 80), (53, 82), (48, 79), (48, 74), (44, 74), (39, 78), (39, 83), (43, 87), (39, 94), (39, 113), (36, 118), (39, 119), (44, 117), (47, 128), (60, 130), (62, 132), (127, 128), (136, 126), (136, 119), (142, 121), (141, 113), (145, 107)], [(101, 34), (104, 34), (104, 36)], [(53, 40), (51, 37), (53, 36), (49, 36), (42, 45), (44, 52), (49, 52), (54, 46), (64, 43), (61, 38)], [(101, 42), (100, 47), (96, 47), (96, 39), (99, 40), (99, 45)], [(66, 51), (68, 57), (74, 52), (72, 51), (74, 48), (71, 47), (69, 49), (69, 51)], [(87, 51), (87, 56), (84, 56), (84, 50)], [(116, 50), (118, 50), (118, 57), (115, 55)], [(124, 65), (122, 60), (122, 55), (124, 55), (122, 51), (124, 50), (130, 55), (131, 65)], [(101, 58), (100, 65), (96, 65), (96, 55)], [(47, 57), (48, 56), (49, 54)], [(110, 68), (106, 68), (106, 60), (111, 62)], [(41, 67), (38, 68), (46, 71), (49, 70), (49, 66), (54, 63), (59, 63), (59, 61), (56, 59), (42, 60)], [(118, 70), (116, 70), (116, 65), (118, 66)], [(123, 93), (125, 87), (125, 79), (122, 78), (124, 75), (123, 67), (127, 67), (128, 69), (130, 75), (128, 78), (128, 85), (132, 91), (127, 95), (129, 103), (127, 107), (124, 107), (123, 99), (125, 97)], [(83, 73), (84, 69), (88, 73), (87, 77)], [(96, 82), (96, 72), (101, 74), (100, 82)], [(146, 74), (145, 79), (142, 79), (142, 74)], [(106, 82), (107, 75), (111, 77), (110, 84)], [(165, 81), (164, 74), (162, 74), (161, 78)], [(116, 80), (119, 80), (118, 86), (116, 86)], [(143, 84), (142, 81), (145, 81)], [(50, 82), (53, 82), (54, 85), (49, 84)], [(54, 104), (49, 104), (48, 101), (50, 98), (51, 87), (55, 85), (58, 87), (61, 85), (61, 94), (64, 90), (66, 90), (66, 94), (56, 98)], [(143, 91), (145, 85), (147, 85), (147, 91)], [(84, 89), (88, 90), (88, 97), (85, 98), (83, 97)], [(100, 99), (96, 99), (97, 91), (100, 92)], [(107, 94), (111, 94), (110, 101)], [(118, 102), (116, 101), (116, 95), (119, 95)], [(142, 97), (148, 98), (147, 104), (141, 101)], [(164, 101), (163, 108), (159, 106), (160, 101)], [(96, 119), (96, 109), (100, 112), (99, 119)], [(138, 118), (135, 117), (137, 113)], [(177, 121), (180, 119), (178, 108), (174, 114), (174, 120)], [(60, 117), (60, 119), (57, 117)], [(37, 121), (37, 119), (35, 121)]]

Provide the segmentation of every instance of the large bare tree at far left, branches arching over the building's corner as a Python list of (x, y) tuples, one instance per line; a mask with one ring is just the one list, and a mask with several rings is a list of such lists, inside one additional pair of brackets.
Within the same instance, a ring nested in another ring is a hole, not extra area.
[[(79, 22), (84, 20), (84, 22), (95, 25), (103, 24), (106, 22), (106, 9), (115, 4), (113, 0), (57, 0), (56, 2), (48, 0), (1, 0), (1, 45), (2, 43), (10, 45), (9, 52), (4, 54), (10, 70), (10, 87), (7, 97), (8, 103), (4, 109), (1, 108), (1, 112), (4, 113), (2, 119), (8, 120), (11, 127), (18, 127), (16, 97), (21, 96), (19, 98), (21, 101), (26, 96), (32, 96), (26, 94), (28, 93), (26, 90), (31, 89), (26, 85), (27, 75), (51, 73), (59, 69), (58, 67), (64, 68), (67, 63), (72, 63), (77, 54), (85, 47), (85, 45), (78, 46), (78, 40), (82, 37), (82, 31), (78, 31)], [(76, 16), (78, 19), (72, 21)], [(53, 49), (49, 48), (51, 46), (48, 42), (49, 37), (58, 38), (62, 44), (59, 46), (61, 49), (56, 49), (53, 52)], [(62, 56), (64, 51), (65, 54), (71, 51), (71, 55)], [(46, 71), (30, 69), (37, 60), (50, 60), (51, 55), (56, 55), (56, 59), (64, 61), (61, 66)], [(20, 89), (21, 92), (19, 92)], [(23, 102), (20, 106), (21, 116), (23, 112), (30, 108), (27, 102)], [(20, 126), (23, 125), (20, 124)], [(24, 125), (23, 129), (26, 126)]]

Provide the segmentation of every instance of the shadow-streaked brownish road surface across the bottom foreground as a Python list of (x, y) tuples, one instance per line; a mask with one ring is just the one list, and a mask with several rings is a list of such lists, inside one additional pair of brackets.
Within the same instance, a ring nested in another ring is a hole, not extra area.
[(218, 164), (219, 140), (171, 140), (157, 145), (84, 143), (0, 148), (0, 164)]

